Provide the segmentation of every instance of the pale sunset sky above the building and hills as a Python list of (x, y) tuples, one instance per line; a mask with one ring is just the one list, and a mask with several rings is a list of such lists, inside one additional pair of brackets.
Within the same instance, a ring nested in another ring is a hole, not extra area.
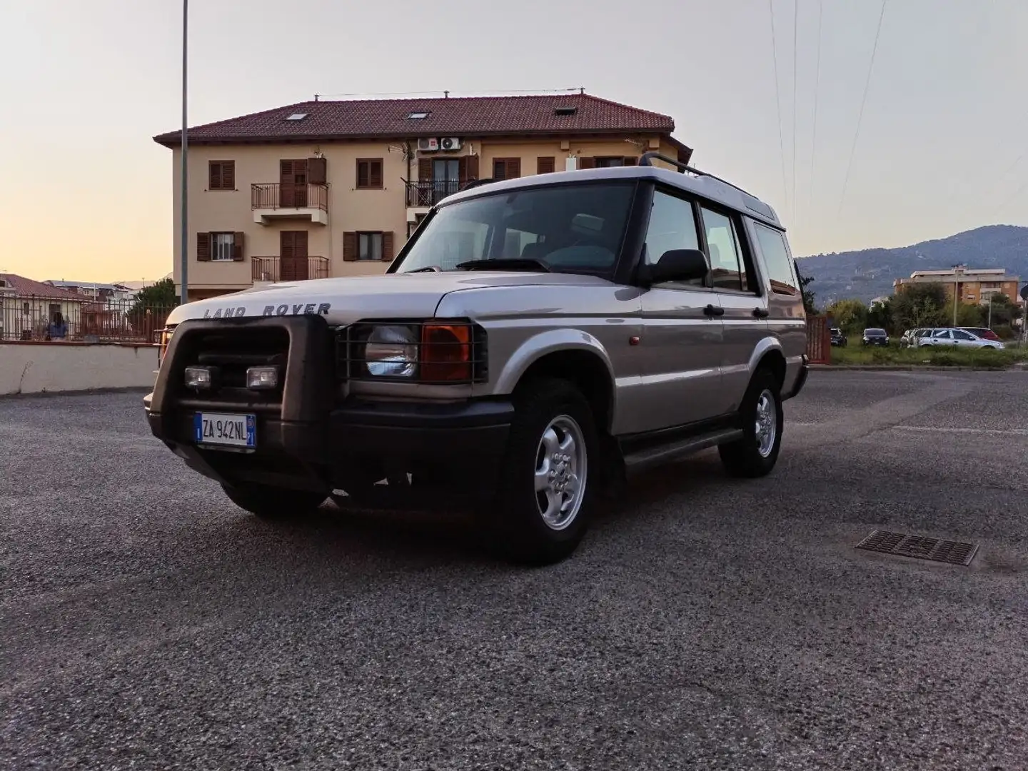
[[(585, 86), (673, 116), (696, 166), (778, 210), (797, 255), (1028, 224), (1028, 3), (887, 1), (843, 199), (882, 5), (797, 1), (772, 3), (779, 124), (767, 0), (193, 0), (190, 123), (316, 93)], [(0, 271), (171, 271), (172, 153), (151, 137), (180, 121), (181, 8), (4, 4)]]

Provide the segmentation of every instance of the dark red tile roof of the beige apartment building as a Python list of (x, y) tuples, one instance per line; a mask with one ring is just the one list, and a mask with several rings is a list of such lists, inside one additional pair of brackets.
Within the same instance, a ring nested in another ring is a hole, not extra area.
[[(575, 108), (556, 114), (557, 108)], [(409, 118), (414, 112), (428, 117)], [(301, 120), (289, 115), (306, 113)], [(196, 143), (277, 140), (472, 137), (499, 134), (603, 134), (646, 132), (669, 135), (667, 115), (640, 110), (588, 94), (452, 99), (347, 100), (300, 102), (216, 123), (193, 126)], [(177, 147), (180, 132), (153, 138)]]

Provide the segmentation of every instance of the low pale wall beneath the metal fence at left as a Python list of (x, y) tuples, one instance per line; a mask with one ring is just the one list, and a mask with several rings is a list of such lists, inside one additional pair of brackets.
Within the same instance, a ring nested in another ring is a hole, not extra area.
[(0, 396), (149, 388), (156, 345), (0, 342)]

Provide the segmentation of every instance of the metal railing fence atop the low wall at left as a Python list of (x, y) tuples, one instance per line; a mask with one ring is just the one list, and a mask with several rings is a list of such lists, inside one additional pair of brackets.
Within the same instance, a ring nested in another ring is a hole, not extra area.
[(0, 297), (0, 340), (151, 343), (172, 307), (133, 300)]

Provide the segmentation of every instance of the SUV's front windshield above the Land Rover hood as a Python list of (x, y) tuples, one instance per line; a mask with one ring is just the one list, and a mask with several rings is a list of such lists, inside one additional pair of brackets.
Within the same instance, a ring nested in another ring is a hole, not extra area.
[[(633, 191), (633, 182), (546, 185), (443, 206), (397, 272), (461, 270), (458, 265), (474, 260), (520, 259), (539, 261), (554, 272), (610, 276)], [(504, 264), (498, 262), (497, 269)], [(525, 269), (524, 264), (517, 269)]]

